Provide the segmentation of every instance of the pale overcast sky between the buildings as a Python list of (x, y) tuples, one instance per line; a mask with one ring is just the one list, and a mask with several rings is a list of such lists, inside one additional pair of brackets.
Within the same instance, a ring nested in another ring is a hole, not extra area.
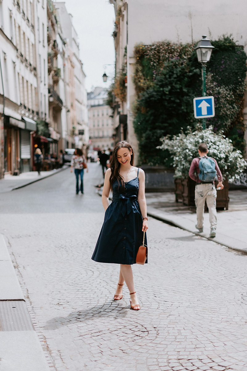
[[(56, 3), (56, 1), (54, 1)], [(80, 58), (86, 73), (86, 89), (92, 86), (108, 87), (110, 79), (103, 82), (102, 75), (114, 76), (115, 50), (113, 37), (114, 7), (108, 0), (65, 0), (68, 13), (79, 37)]]

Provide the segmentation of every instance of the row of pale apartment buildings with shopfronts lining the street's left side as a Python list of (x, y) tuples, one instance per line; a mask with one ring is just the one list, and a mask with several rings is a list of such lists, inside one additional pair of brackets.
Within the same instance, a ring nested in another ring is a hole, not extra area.
[(71, 47), (62, 22), (51, 0), (0, 0), (0, 178), (32, 170), (37, 147), (89, 143), (78, 36), (71, 23)]

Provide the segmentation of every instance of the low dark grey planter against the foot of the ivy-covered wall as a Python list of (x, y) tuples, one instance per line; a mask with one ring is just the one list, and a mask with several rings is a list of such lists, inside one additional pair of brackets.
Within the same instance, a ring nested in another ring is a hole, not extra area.
[(146, 192), (174, 191), (174, 171), (164, 166), (141, 166), (145, 171)]

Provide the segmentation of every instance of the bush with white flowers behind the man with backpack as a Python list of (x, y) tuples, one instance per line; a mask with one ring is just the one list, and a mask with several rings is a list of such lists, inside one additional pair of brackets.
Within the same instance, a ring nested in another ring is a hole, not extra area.
[(157, 148), (170, 152), (175, 167), (175, 178), (188, 177), (191, 161), (198, 157), (200, 143), (207, 144), (208, 156), (216, 159), (223, 178), (228, 177), (230, 181), (239, 178), (247, 166), (241, 151), (233, 147), (231, 139), (222, 133), (214, 133), (213, 127), (204, 130), (197, 127), (196, 131), (188, 127), (186, 133), (181, 132), (172, 138), (167, 135), (160, 140), (162, 145)]

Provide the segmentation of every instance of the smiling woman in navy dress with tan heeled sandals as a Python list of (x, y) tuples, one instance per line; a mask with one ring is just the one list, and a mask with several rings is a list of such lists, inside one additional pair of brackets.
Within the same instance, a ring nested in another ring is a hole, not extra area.
[[(131, 264), (136, 263), (138, 247), (147, 226), (144, 171), (134, 167), (134, 152), (126, 141), (113, 150), (110, 169), (107, 169), (102, 193), (106, 211), (92, 259), (101, 263), (120, 264), (119, 283), (114, 300), (123, 298), (124, 282), (130, 291), (131, 309), (140, 305), (134, 288)], [(109, 193), (113, 191), (109, 206)], [(146, 235), (145, 235), (146, 240)], [(147, 240), (145, 241), (147, 244)]]

